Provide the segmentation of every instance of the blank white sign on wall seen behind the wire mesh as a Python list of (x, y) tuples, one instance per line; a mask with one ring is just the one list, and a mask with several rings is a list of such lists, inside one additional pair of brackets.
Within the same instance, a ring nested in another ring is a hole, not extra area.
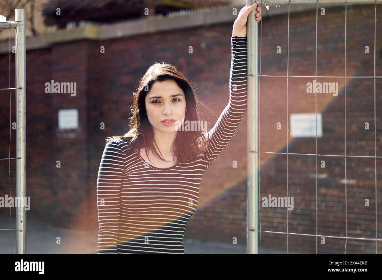
[[(316, 137), (316, 113), (290, 114), (292, 137)], [(322, 137), (322, 115), (317, 113), (317, 137)]]

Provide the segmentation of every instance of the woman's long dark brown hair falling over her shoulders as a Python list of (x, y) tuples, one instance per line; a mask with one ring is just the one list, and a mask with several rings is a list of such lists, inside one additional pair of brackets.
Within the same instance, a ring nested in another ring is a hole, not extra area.
[[(157, 158), (166, 161), (157, 153), (157, 150), (154, 147), (154, 144), (157, 147), (158, 145), (155, 142), (154, 132), (149, 119), (147, 119), (145, 97), (155, 82), (162, 82), (168, 79), (174, 80), (178, 87), (180, 87), (185, 93), (187, 111), (184, 121), (197, 121), (197, 123), (200, 123), (201, 120), (197, 105), (206, 108), (214, 114), (214, 112), (206, 104), (199, 100), (189, 80), (180, 71), (178, 71), (178, 69), (168, 63), (155, 63), (147, 69), (138, 85), (136, 92), (133, 93), (133, 105), (130, 106), (131, 116), (129, 117), (129, 131), (123, 135), (107, 137), (105, 139), (106, 142), (115, 137), (123, 138), (128, 140), (129, 146), (132, 149), (138, 150), (138, 154), (140, 153), (141, 147), (144, 147), (147, 155), (149, 154), (148, 150), (151, 150)], [(173, 160), (175, 160), (175, 156), (178, 161), (193, 160), (198, 154), (203, 153), (206, 148), (207, 140), (206, 137), (203, 137), (202, 131), (178, 130), (173, 147)]]

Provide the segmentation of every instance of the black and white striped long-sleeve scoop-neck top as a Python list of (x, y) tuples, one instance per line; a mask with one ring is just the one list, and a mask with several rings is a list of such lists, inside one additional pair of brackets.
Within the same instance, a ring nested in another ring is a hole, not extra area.
[(247, 38), (231, 37), (230, 99), (194, 161), (157, 168), (128, 140), (107, 142), (98, 171), (97, 253), (184, 254), (183, 237), (202, 177), (231, 142), (247, 108)]

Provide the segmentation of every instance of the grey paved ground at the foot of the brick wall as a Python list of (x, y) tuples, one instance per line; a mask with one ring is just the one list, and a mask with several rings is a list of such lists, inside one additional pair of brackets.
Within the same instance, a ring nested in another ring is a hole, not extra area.
[[(9, 219), (0, 219), (0, 229), (9, 228)], [(11, 228), (15, 229), (14, 221)], [(26, 250), (28, 254), (94, 254), (97, 248), (97, 233), (52, 227), (42, 222), (27, 220)], [(59, 242), (57, 242), (59, 240)], [(59, 244), (57, 244), (59, 243)], [(16, 232), (0, 230), (0, 254), (16, 253)], [(246, 246), (227, 245), (198, 240), (184, 240), (186, 254), (246, 254)], [(261, 253), (282, 253), (266, 251)]]

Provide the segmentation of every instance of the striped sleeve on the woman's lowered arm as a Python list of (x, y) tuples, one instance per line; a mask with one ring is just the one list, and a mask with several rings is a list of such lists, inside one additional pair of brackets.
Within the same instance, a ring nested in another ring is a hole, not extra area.
[(125, 158), (117, 139), (106, 143), (98, 171), (99, 231), (97, 254), (117, 254), (120, 191), (125, 169)]

